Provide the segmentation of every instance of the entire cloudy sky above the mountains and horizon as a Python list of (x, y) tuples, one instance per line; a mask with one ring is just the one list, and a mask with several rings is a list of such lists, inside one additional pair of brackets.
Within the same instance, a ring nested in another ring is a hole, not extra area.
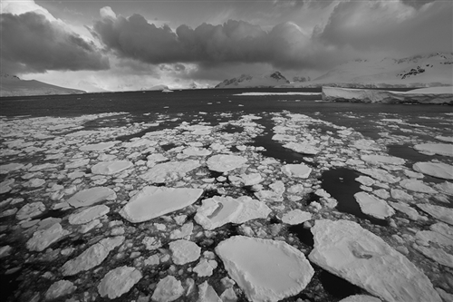
[(97, 91), (453, 52), (452, 0), (1, 0), (1, 73)]

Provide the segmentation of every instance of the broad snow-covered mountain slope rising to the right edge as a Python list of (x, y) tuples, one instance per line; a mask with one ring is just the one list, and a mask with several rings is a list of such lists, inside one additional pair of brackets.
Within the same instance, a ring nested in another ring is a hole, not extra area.
[(452, 85), (453, 53), (342, 63), (311, 82), (284, 87), (429, 87)]

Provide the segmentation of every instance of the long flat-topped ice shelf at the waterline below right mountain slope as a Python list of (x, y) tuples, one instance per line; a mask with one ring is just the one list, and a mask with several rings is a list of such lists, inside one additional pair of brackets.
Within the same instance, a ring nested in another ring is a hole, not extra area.
[(449, 89), (448, 87), (414, 89), (409, 92), (323, 87), (322, 97), (323, 101), (334, 102), (453, 103), (452, 91), (451, 87)]

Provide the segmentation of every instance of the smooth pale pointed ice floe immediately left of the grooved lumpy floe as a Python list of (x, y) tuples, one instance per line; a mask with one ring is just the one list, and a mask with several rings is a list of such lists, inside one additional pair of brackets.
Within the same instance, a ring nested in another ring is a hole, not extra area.
[(129, 200), (120, 215), (130, 222), (147, 221), (191, 205), (202, 193), (201, 189), (148, 186)]

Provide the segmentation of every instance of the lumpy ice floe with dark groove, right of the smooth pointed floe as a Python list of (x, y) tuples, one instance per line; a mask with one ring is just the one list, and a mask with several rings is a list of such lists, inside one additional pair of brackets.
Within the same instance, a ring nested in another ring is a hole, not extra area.
[(271, 211), (264, 202), (248, 196), (237, 199), (214, 196), (203, 200), (194, 219), (204, 229), (211, 230), (230, 222), (244, 223), (252, 219), (265, 219)]

